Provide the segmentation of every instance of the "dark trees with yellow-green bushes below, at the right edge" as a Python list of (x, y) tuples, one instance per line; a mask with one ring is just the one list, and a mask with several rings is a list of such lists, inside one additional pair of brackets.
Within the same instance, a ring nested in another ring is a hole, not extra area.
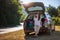
[(55, 24), (60, 24), (60, 6), (57, 8), (49, 5), (46, 11), (52, 16), (52, 19), (55, 19)]

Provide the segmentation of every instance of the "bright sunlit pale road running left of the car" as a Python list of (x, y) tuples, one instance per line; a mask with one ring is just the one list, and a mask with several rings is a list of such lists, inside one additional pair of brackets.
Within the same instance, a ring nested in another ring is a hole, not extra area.
[(1, 28), (0, 34), (5, 34), (5, 33), (9, 33), (9, 32), (18, 31), (18, 30), (23, 30), (23, 23), (21, 23), (21, 25), (11, 27), (11, 28)]

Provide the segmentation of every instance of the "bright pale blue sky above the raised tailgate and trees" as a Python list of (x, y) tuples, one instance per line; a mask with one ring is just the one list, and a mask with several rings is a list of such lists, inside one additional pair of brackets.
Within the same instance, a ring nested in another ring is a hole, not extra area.
[(28, 4), (29, 2), (43, 2), (45, 6), (52, 5), (56, 8), (60, 5), (60, 0), (59, 1), (57, 0), (19, 0), (19, 2), (21, 1), (22, 1), (22, 4)]

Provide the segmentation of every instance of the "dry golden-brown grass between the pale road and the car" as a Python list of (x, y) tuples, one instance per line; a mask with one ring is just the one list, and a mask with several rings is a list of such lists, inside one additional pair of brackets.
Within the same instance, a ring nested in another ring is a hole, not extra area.
[(24, 31), (19, 30), (7, 34), (0, 34), (0, 40), (25, 40), (24, 39)]

